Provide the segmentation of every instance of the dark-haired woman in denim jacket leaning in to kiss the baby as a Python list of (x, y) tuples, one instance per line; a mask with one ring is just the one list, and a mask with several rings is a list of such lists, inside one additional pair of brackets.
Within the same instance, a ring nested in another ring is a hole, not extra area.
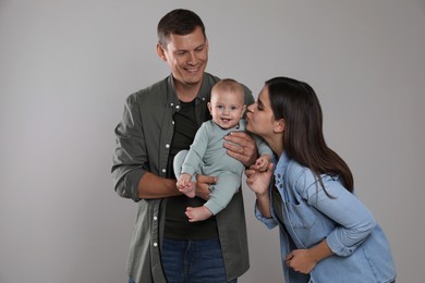
[(325, 143), (312, 87), (288, 77), (267, 81), (246, 121), (279, 158), (275, 172), (274, 164), (266, 172), (254, 165), (245, 174), (257, 219), (279, 225), (287, 282), (394, 282), (389, 244), (356, 198), (349, 167)]

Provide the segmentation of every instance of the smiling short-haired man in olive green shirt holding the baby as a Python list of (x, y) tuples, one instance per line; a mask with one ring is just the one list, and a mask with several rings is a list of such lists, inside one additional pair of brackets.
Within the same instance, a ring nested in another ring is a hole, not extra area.
[[(116, 128), (112, 177), (117, 193), (138, 204), (130, 247), (130, 282), (236, 282), (248, 269), (242, 192), (206, 221), (189, 222), (186, 207), (208, 199), (214, 176), (197, 176), (196, 196), (175, 187), (174, 156), (189, 149), (207, 111), (218, 77), (205, 72), (208, 40), (194, 12), (178, 9), (158, 23), (159, 58), (171, 75), (131, 95)], [(245, 103), (254, 99), (245, 89)], [(254, 163), (255, 142), (233, 133), (223, 146), (246, 167)], [(209, 260), (205, 260), (208, 258)]]

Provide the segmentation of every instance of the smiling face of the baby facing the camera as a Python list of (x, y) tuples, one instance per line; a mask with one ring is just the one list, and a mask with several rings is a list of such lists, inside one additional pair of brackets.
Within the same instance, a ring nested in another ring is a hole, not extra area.
[(246, 106), (244, 94), (233, 91), (217, 91), (211, 95), (208, 103), (212, 121), (222, 128), (230, 128), (238, 125)]

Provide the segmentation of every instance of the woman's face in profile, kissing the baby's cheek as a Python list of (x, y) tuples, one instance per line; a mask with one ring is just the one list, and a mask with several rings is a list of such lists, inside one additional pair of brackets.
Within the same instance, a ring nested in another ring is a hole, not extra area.
[(246, 113), (246, 130), (262, 136), (264, 139), (272, 137), (275, 115), (270, 108), (268, 86), (264, 86), (257, 101), (248, 107)]

